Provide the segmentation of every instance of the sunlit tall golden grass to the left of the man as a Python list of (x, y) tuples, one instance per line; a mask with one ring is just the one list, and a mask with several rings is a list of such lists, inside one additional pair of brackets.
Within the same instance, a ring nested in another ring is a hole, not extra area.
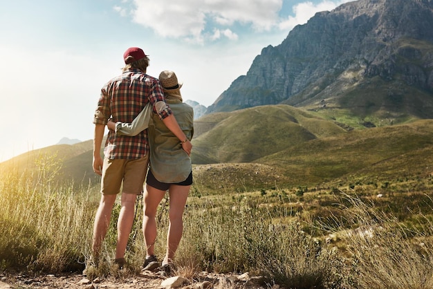
[[(42, 163), (42, 162), (41, 162)], [(7, 268), (77, 270), (93, 214), (87, 189), (52, 183), (53, 167), (2, 172), (0, 259)]]

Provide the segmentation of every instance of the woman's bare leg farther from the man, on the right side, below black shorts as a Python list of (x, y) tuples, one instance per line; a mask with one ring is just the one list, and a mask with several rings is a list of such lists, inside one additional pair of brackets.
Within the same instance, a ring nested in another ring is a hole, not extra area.
[(181, 242), (183, 232), (183, 209), (187, 203), (189, 186), (171, 185), (169, 187), (169, 228), (167, 232), (167, 252), (163, 264), (171, 263), (174, 258), (179, 243)]

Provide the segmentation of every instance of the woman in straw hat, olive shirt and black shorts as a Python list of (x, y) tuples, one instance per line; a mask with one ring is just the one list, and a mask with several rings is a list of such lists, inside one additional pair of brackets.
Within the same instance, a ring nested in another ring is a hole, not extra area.
[[(185, 136), (187, 136), (187, 140), (191, 140), (194, 133), (194, 112), (191, 106), (182, 101), (182, 85), (178, 84), (176, 74), (173, 71), (161, 72), (159, 80), (163, 86), (167, 104), (172, 109)], [(138, 133), (137, 127), (140, 127), (141, 130), (146, 128), (149, 114), (151, 112), (144, 109), (131, 124), (109, 122), (109, 128), (115, 129), (116, 133), (133, 135), (133, 133)], [(138, 122), (140, 125), (137, 124)], [(162, 266), (158, 269), (163, 274), (170, 274), (174, 254), (182, 238), (182, 216), (192, 185), (192, 165), (189, 154), (182, 149), (178, 138), (167, 129), (158, 115), (151, 115), (148, 132), (151, 152), (143, 201), (142, 231), (147, 248), (143, 270), (155, 270), (159, 267), (158, 259), (154, 254), (154, 243), (157, 235), (155, 217), (158, 205), (168, 190), (167, 248)]]

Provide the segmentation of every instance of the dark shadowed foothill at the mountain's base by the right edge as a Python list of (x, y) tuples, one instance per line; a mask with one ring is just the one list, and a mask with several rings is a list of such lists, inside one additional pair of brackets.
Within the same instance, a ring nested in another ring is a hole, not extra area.
[(319, 95), (319, 100), (304, 109), (356, 129), (367, 124), (384, 127), (433, 118), (433, 109), (425, 109), (433, 108), (431, 94), (405, 85), (400, 80), (385, 82), (380, 77), (374, 77), (356, 84), (342, 82), (334, 85), (338, 97), (324, 98), (324, 95)]

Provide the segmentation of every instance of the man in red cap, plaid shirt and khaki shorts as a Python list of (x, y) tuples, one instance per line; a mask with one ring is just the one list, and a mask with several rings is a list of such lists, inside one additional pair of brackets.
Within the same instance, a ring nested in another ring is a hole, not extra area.
[(167, 128), (181, 142), (190, 155), (192, 145), (165, 103), (160, 82), (146, 74), (149, 57), (138, 47), (128, 48), (124, 55), (122, 75), (114, 77), (102, 87), (95, 111), (93, 138), (93, 171), (102, 176), (101, 200), (93, 226), (92, 254), (96, 262), (100, 257), (102, 241), (109, 227), (116, 196), (122, 187), (118, 217), (118, 238), (115, 263), (125, 265), (125, 250), (134, 218), (136, 197), (141, 194), (149, 162), (147, 129), (137, 136), (120, 136), (109, 131), (104, 147), (104, 160), (100, 156), (104, 128), (109, 118), (114, 122), (132, 122), (147, 103), (159, 115)]

